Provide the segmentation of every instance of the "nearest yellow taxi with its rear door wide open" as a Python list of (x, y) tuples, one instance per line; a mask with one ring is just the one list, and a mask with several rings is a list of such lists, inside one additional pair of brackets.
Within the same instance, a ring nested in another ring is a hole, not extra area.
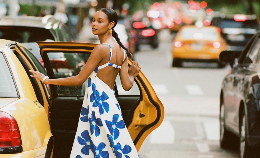
[[(39, 42), (45, 68), (24, 45), (0, 39), (0, 157), (69, 157), (84, 98), (84, 86), (45, 85), (31, 78), (38, 70), (50, 78), (61, 65), (50, 64), (56, 53), (90, 55), (96, 44)], [(66, 61), (68, 59), (64, 59)], [(128, 59), (128, 63), (131, 64)], [(57, 68), (58, 66), (58, 68)], [(81, 93), (75, 93), (80, 91)], [(124, 91), (120, 79), (115, 96), (137, 151), (164, 117), (164, 107), (142, 72)], [(79, 95), (81, 94), (81, 95)]]

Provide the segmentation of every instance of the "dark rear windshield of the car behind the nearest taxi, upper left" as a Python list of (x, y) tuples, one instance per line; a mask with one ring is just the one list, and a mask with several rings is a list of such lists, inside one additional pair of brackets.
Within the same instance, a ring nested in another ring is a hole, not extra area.
[(54, 40), (48, 29), (24, 26), (0, 26), (0, 38), (19, 43)]

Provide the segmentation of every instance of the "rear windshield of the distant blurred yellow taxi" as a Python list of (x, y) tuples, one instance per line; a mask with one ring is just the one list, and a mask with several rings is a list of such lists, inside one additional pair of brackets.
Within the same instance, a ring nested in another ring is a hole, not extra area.
[(184, 39), (217, 40), (219, 34), (215, 28), (183, 28), (180, 37)]

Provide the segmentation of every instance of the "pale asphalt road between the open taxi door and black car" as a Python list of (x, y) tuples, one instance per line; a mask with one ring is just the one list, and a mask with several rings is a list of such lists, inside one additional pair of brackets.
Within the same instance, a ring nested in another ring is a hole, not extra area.
[(143, 45), (135, 60), (164, 104), (165, 118), (144, 141), (140, 158), (238, 158), (238, 150), (219, 145), (219, 94), (230, 67), (184, 63), (171, 67), (171, 41), (166, 30), (160, 45)]

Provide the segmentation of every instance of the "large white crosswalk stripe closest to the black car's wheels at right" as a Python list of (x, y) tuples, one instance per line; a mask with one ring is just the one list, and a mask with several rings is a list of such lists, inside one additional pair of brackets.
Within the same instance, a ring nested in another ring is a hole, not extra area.
[(207, 140), (219, 140), (219, 121), (216, 119), (214, 122), (204, 122), (203, 123)]

